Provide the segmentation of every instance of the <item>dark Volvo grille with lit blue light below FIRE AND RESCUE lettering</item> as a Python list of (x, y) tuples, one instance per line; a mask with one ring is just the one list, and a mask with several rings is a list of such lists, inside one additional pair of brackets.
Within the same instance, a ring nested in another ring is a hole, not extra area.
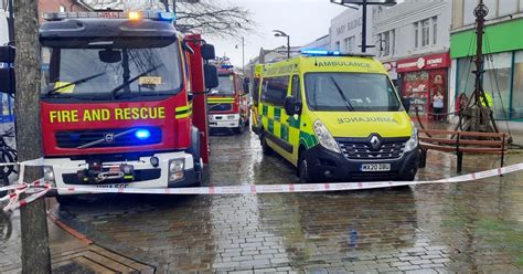
[[(103, 140), (96, 145), (88, 146), (90, 148), (99, 148), (131, 147), (161, 143), (162, 133), (158, 127), (140, 127), (140, 129), (149, 130), (150, 137), (147, 139), (138, 139), (132, 129), (134, 128), (58, 131), (55, 134), (56, 145), (61, 148), (77, 148), (89, 143)], [(117, 136), (125, 131), (129, 133)]]

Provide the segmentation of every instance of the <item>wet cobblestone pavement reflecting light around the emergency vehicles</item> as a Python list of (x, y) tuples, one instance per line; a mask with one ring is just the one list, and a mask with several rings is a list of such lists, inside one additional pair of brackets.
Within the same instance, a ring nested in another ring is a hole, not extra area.
[[(213, 136), (204, 186), (297, 182), (255, 135)], [(522, 155), (508, 157), (508, 165)], [(430, 151), (418, 179), (456, 175)], [(466, 156), (463, 172), (498, 167)], [(258, 196), (104, 196), (56, 214), (158, 273), (522, 273), (523, 173), (399, 189)]]

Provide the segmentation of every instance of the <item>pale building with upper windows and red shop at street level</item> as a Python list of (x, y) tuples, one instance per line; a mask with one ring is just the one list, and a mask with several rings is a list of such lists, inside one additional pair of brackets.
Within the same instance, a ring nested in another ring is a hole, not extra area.
[(450, 109), (449, 0), (406, 0), (394, 7), (374, 8), (375, 53), (404, 97), (421, 117), (430, 119), (431, 98), (440, 92), (444, 112)]

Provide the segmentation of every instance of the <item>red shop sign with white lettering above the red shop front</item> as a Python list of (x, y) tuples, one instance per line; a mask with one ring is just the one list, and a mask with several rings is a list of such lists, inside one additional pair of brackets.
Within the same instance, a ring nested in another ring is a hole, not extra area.
[(396, 65), (397, 72), (415, 72), (421, 70), (433, 70), (450, 66), (450, 55), (446, 53), (437, 53), (421, 57), (398, 60)]

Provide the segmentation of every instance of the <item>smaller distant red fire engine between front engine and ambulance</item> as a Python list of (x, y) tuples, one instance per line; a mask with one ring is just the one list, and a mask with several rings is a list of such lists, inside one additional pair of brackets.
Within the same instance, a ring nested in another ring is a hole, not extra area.
[(249, 124), (248, 81), (232, 65), (216, 64), (218, 86), (207, 97), (211, 129), (233, 129), (242, 134)]

